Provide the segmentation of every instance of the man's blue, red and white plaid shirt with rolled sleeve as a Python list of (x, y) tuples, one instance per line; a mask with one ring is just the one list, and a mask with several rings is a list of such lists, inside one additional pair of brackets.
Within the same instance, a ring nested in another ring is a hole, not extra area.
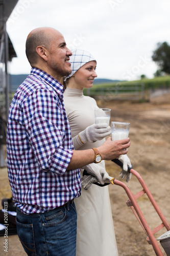
[(80, 169), (66, 170), (74, 146), (63, 91), (52, 76), (32, 68), (10, 105), (8, 176), (25, 214), (54, 209), (81, 193)]

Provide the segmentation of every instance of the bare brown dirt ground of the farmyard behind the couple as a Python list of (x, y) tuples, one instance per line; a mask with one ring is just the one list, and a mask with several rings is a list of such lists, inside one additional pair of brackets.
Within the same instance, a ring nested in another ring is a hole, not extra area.
[[(109, 101), (98, 102), (100, 106), (110, 108), (111, 121), (128, 121), (130, 125), (131, 146), (128, 156), (133, 169), (141, 175), (147, 184), (167, 222), (170, 223), (170, 95), (154, 98), (151, 102)], [(120, 167), (111, 161), (106, 162), (107, 172), (117, 180)], [(133, 195), (142, 190), (135, 176), (129, 183), (123, 181)], [(11, 196), (8, 183), (7, 169), (0, 169), (0, 200)], [(128, 196), (124, 188), (109, 185), (114, 229), (119, 256), (154, 256), (152, 245), (146, 241), (147, 235), (143, 231), (130, 207), (127, 207)], [(148, 197), (143, 195), (137, 203), (151, 229), (161, 224), (155, 209)], [(2, 208), (0, 206), (0, 208)], [(155, 234), (157, 239), (166, 232), (165, 228)], [(4, 252), (4, 237), (0, 237), (0, 254), (10, 256), (24, 256), (17, 236), (8, 237), (8, 253)], [(159, 242), (158, 242), (159, 244)], [(160, 246), (162, 253), (166, 253)], [(81, 255), (80, 255), (81, 256)], [(89, 255), (92, 256), (92, 255)], [(107, 256), (107, 255), (104, 255)]]

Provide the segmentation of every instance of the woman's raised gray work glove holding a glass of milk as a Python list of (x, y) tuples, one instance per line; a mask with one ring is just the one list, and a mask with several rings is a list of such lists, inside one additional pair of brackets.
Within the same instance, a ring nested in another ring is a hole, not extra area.
[(80, 132), (77, 136), (72, 138), (72, 142), (76, 150), (82, 145), (88, 142), (95, 142), (97, 140), (102, 140), (106, 136), (111, 134), (111, 128), (107, 125), (107, 123), (98, 123), (92, 124), (82, 132)]

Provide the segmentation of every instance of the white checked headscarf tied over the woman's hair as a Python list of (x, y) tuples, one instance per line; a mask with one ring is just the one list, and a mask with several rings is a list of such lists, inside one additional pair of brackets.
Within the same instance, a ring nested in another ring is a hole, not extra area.
[(69, 62), (71, 63), (71, 69), (72, 72), (70, 75), (64, 77), (64, 81), (74, 75), (76, 71), (78, 71), (83, 65), (85, 65), (89, 61), (96, 61), (95, 58), (91, 55), (91, 53), (84, 51), (84, 50), (79, 50), (79, 49), (74, 49), (71, 50), (72, 56), (69, 57)]

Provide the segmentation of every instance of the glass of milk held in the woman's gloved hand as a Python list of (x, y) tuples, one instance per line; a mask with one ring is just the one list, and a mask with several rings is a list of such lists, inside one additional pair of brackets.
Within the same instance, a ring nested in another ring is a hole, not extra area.
[(107, 123), (107, 125), (109, 126), (110, 115), (111, 115), (110, 109), (95, 109), (94, 110), (95, 124)]

